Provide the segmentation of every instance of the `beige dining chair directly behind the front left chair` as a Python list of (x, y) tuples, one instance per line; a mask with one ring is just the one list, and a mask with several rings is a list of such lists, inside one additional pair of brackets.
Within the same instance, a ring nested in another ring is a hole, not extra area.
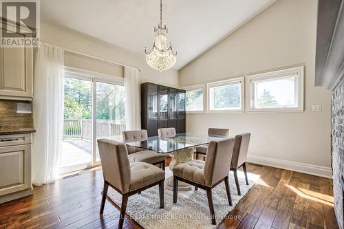
[[(147, 130), (123, 131), (123, 140), (125, 142), (137, 142), (147, 140)], [(160, 168), (165, 170), (165, 155), (155, 153), (154, 151), (144, 150), (139, 147), (127, 144), (129, 162), (146, 162), (149, 164), (160, 164)]]

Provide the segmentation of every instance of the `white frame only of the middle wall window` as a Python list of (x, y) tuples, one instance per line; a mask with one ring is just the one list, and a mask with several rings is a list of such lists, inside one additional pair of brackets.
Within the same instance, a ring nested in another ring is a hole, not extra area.
[[(235, 85), (239, 83), (240, 85), (240, 109), (211, 109), (211, 88), (213, 87), (221, 87), (221, 86), (227, 86), (227, 85)], [(230, 78), (227, 80), (219, 80), (211, 83), (206, 84), (206, 92), (207, 92), (207, 105), (206, 110), (207, 113), (237, 113), (237, 112), (244, 112), (245, 107), (245, 80), (244, 76), (236, 77), (236, 78)]]

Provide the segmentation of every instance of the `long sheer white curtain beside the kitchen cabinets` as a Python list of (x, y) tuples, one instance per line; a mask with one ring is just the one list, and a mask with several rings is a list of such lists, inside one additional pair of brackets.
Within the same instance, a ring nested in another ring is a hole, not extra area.
[(57, 176), (63, 131), (63, 50), (41, 43), (34, 68), (32, 182), (52, 183)]

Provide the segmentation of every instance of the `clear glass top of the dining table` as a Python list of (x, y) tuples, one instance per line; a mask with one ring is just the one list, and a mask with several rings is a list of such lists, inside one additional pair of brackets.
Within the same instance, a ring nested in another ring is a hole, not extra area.
[(222, 138), (223, 137), (220, 136), (208, 136), (204, 133), (178, 133), (166, 138), (152, 136), (143, 141), (123, 142), (131, 146), (155, 151), (157, 153), (173, 153), (174, 151), (179, 151), (193, 146), (200, 146), (202, 144), (207, 144), (212, 140), (220, 140)]

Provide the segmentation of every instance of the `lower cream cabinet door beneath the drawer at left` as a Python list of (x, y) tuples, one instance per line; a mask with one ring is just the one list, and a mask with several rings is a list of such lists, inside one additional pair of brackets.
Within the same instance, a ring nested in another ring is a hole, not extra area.
[(0, 147), (0, 196), (31, 187), (31, 145)]

